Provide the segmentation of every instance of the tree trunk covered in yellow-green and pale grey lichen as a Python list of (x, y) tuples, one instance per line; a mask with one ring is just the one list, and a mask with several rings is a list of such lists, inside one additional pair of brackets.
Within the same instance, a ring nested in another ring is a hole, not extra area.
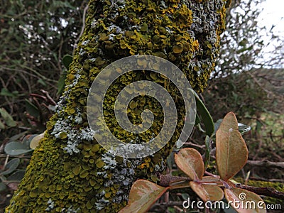
[[(163, 116), (155, 116), (154, 128), (145, 133), (120, 131), (111, 110), (112, 97), (130, 82), (153, 80), (165, 86), (178, 109), (175, 135), (164, 148), (146, 158), (127, 159), (111, 155), (94, 140), (87, 122), (89, 87), (111, 62), (146, 54), (173, 62), (192, 88), (202, 91), (219, 53), (225, 5), (226, 0), (89, 1), (65, 92), (6, 212), (118, 212), (126, 205), (133, 181), (158, 182), (184, 120), (176, 88), (163, 76), (147, 71), (129, 72), (110, 87), (104, 102), (106, 121), (126, 142), (148, 141), (163, 126)], [(129, 109), (133, 123), (139, 123), (137, 111), (144, 109), (162, 112), (151, 97), (138, 97)]]

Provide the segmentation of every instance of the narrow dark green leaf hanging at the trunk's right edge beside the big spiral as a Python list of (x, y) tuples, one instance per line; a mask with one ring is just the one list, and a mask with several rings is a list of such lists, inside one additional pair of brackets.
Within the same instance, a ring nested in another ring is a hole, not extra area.
[(205, 131), (207, 136), (212, 136), (214, 133), (214, 122), (212, 119), (212, 116), (210, 115), (208, 109), (203, 104), (202, 100), (198, 96), (198, 94), (195, 92), (195, 102), (197, 107), (197, 113), (200, 114), (202, 121), (205, 126)]

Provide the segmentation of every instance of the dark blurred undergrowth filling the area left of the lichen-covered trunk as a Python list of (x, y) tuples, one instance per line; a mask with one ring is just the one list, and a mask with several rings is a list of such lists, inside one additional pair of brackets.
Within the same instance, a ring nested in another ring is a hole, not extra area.
[[(42, 133), (53, 114), (67, 71), (62, 58), (72, 55), (80, 38), (86, 6), (75, 0), (0, 1), (0, 212), (31, 158), (32, 134)], [(8, 155), (5, 146), (23, 154)]]

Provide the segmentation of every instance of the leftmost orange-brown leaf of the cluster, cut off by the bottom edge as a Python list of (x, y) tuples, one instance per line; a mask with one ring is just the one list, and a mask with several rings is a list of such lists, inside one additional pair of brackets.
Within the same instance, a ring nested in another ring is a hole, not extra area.
[(137, 180), (129, 192), (129, 203), (119, 213), (147, 212), (167, 190), (168, 187), (161, 187), (148, 180)]

